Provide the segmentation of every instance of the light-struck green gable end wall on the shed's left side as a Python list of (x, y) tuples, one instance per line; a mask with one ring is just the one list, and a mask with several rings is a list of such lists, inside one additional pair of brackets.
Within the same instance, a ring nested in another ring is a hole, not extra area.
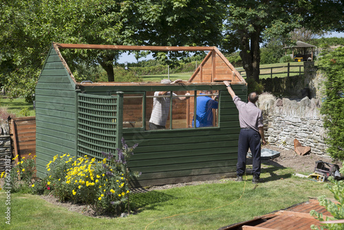
[(56, 155), (76, 156), (75, 84), (54, 49), (36, 85), (36, 168), (44, 176)]

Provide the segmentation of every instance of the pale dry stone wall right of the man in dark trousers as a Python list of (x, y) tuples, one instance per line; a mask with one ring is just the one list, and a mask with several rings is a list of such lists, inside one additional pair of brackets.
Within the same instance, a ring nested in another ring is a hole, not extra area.
[(296, 138), (301, 145), (310, 146), (313, 154), (326, 155), (325, 129), (318, 99), (275, 99), (264, 94), (261, 97), (259, 107), (264, 113), (265, 134), (270, 145), (294, 149)]

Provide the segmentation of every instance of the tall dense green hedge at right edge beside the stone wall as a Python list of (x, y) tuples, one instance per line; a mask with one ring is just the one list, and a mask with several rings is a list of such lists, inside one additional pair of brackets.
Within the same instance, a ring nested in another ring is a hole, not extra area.
[(333, 158), (344, 159), (344, 48), (337, 48), (319, 61), (324, 72), (325, 101), (321, 107), (327, 129), (327, 151)]

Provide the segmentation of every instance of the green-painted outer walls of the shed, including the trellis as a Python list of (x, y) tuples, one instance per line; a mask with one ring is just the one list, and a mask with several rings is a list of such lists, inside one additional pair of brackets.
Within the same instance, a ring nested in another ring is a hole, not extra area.
[[(122, 136), (129, 146), (138, 143), (129, 167), (142, 176), (132, 181), (133, 186), (235, 176), (240, 128), (237, 109), (225, 85), (79, 86), (76, 90), (52, 48), (36, 85), (37, 176), (44, 176), (47, 163), (57, 154), (87, 154), (101, 160), (101, 151), (115, 151)], [(118, 92), (193, 90), (219, 90), (218, 127), (122, 129), (123, 98)], [(246, 101), (246, 85), (233, 85), (233, 90)]]

